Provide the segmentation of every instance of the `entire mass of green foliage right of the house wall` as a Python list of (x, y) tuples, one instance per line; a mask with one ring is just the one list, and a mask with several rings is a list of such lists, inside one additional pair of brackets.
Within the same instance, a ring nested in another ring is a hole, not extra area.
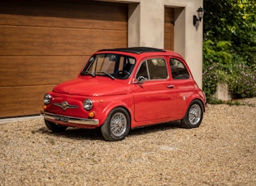
[[(204, 0), (204, 9), (203, 89), (206, 95), (214, 94), (216, 83), (224, 81), (234, 94), (255, 96), (256, 2)], [(215, 81), (209, 82), (213, 74)], [(237, 86), (238, 82), (242, 88)]]

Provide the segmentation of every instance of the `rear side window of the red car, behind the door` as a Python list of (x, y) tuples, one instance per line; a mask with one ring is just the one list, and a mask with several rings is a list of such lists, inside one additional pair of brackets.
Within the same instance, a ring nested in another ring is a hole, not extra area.
[(170, 59), (171, 76), (173, 79), (189, 78), (189, 71), (184, 64), (177, 59)]

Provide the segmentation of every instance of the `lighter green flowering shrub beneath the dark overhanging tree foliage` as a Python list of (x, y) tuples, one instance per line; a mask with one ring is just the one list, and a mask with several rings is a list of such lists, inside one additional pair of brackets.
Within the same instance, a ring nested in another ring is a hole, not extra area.
[(207, 99), (212, 99), (218, 82), (228, 83), (228, 91), (238, 97), (256, 96), (256, 65), (245, 65), (231, 47), (228, 41), (204, 42), (202, 89)]

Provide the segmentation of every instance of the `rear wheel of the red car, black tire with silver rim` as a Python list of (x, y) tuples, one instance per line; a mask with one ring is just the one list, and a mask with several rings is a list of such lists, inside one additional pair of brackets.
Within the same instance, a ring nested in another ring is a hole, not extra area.
[(202, 116), (202, 102), (198, 99), (195, 99), (189, 104), (186, 115), (181, 120), (181, 126), (186, 129), (196, 128), (202, 123)]

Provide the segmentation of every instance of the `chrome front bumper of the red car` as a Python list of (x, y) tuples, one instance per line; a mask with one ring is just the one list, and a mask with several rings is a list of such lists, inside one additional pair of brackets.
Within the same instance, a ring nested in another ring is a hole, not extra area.
[(78, 118), (78, 117), (70, 117), (70, 116), (61, 116), (57, 114), (52, 114), (49, 112), (41, 112), (41, 116), (43, 116), (46, 120), (56, 120), (73, 124), (80, 125), (98, 125), (99, 121), (97, 119), (86, 119), (86, 118)]

